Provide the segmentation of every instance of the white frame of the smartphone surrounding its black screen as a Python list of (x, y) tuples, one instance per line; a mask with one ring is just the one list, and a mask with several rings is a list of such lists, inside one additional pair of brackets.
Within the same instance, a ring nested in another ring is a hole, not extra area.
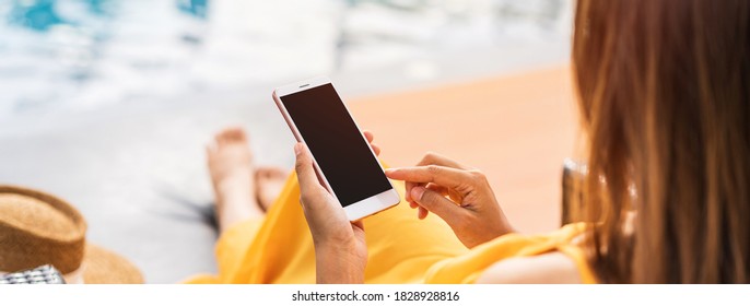
[[(315, 89), (315, 87), (318, 87), (321, 85), (328, 85), (328, 84), (330, 84), (332, 86), (332, 83), (328, 78), (318, 76), (315, 79), (305, 80), (305, 81), (296, 82), (293, 84), (284, 85), (284, 86), (278, 87), (273, 91), (273, 101), (276, 102), (277, 106), (279, 107), (279, 110), (281, 111), (281, 114), (283, 115), (284, 120), (289, 125), (289, 128), (292, 130), (292, 133), (294, 133), (294, 138), (298, 142), (305, 143), (305, 145), (307, 145), (307, 142), (306, 142), (305, 138), (303, 137), (303, 134), (297, 129), (297, 125), (294, 122), (294, 118), (292, 118), (292, 116), (288, 111), (282, 99), (284, 96), (301, 93), (304, 91), (308, 91), (308, 90), (312, 90), (312, 89)], [(349, 116), (351, 116), (349, 108), (347, 108), (347, 106), (342, 99), (341, 99), (341, 102), (343, 104), (345, 111), (349, 113)], [(354, 118), (352, 117), (351, 119), (353, 120)], [(360, 137), (362, 138), (362, 140), (364, 141), (364, 143), (366, 145), (367, 140), (364, 138), (364, 134), (362, 134), (362, 131), (361, 131), (360, 127), (356, 125), (356, 121), (354, 121), (354, 126), (356, 127)], [(307, 145), (307, 146), (309, 148), (309, 145)], [(366, 145), (366, 146), (370, 150), (370, 153), (372, 154), (372, 158), (374, 158), (375, 162), (377, 162), (377, 156), (375, 155), (375, 152), (373, 152), (373, 150), (370, 145)], [(333, 191), (333, 188), (329, 184), (329, 180), (326, 178), (326, 174), (320, 169), (320, 166), (318, 165), (318, 162), (315, 157), (315, 152), (312, 152), (312, 153), (313, 153), (313, 162), (314, 162), (315, 172), (317, 173), (320, 183), (324, 185), (324, 187), (326, 187), (326, 189), (331, 195), (333, 195), (333, 197), (336, 197), (336, 192)], [(383, 166), (380, 165), (379, 162), (377, 162), (377, 165), (379, 166), (379, 169), (383, 173), (384, 169), (383, 169)], [(383, 176), (385, 177), (385, 174), (383, 174)], [(353, 221), (361, 220), (365, 216), (368, 216), (368, 215), (378, 213), (380, 211), (387, 210), (389, 208), (392, 208), (400, 202), (400, 197), (399, 197), (398, 192), (396, 191), (396, 189), (394, 188), (394, 185), (387, 178), (386, 178), (386, 180), (388, 181), (388, 185), (390, 186), (390, 188), (388, 190), (343, 207), (343, 210), (345, 211), (347, 216), (350, 221), (353, 222)], [(336, 197), (336, 198), (339, 199), (338, 197)]]

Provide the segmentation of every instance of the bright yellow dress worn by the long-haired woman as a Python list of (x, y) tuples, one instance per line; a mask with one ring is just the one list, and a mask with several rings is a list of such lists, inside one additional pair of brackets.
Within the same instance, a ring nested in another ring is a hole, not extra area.
[[(403, 195), (403, 185), (395, 186)], [(196, 275), (186, 283), (315, 283), (313, 238), (298, 200), (293, 174), (265, 219), (248, 220), (221, 235), (218, 275)], [(583, 251), (570, 243), (583, 231), (581, 224), (547, 235), (507, 234), (469, 250), (440, 217), (418, 220), (402, 199), (396, 208), (365, 219), (364, 227), (366, 283), (473, 283), (500, 260), (553, 250), (576, 262), (585, 283), (595, 282)]]

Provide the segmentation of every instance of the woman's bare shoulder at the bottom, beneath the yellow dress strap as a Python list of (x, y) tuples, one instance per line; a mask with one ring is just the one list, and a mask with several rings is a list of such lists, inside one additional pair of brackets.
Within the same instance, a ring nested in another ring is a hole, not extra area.
[(499, 261), (477, 280), (477, 283), (493, 284), (579, 284), (582, 282), (576, 262), (561, 251)]

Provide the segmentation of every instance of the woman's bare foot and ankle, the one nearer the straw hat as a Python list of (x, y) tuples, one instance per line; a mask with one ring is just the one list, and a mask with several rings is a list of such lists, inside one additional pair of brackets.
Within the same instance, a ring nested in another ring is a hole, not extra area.
[(225, 129), (206, 151), (220, 231), (247, 219), (262, 217), (265, 212), (257, 201), (253, 154), (245, 132), (239, 128)]

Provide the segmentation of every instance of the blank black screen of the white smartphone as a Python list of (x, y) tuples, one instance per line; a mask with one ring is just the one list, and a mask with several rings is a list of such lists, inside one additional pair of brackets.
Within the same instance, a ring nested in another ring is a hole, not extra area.
[(282, 96), (281, 103), (342, 207), (391, 188), (333, 85)]

